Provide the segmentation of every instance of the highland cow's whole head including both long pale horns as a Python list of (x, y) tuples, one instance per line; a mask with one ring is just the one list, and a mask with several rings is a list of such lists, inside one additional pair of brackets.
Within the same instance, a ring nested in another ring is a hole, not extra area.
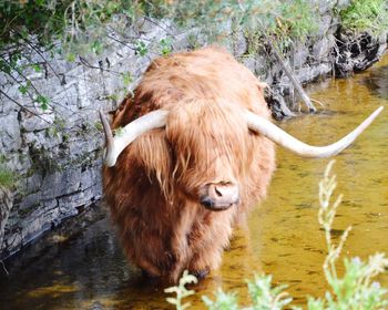
[(164, 127), (175, 165), (173, 177), (180, 189), (211, 210), (225, 210), (238, 204), (238, 185), (249, 168), (249, 138), (257, 138), (258, 134), (300, 156), (329, 157), (349, 146), (381, 110), (382, 106), (377, 108), (340, 141), (320, 147), (296, 140), (238, 104), (187, 101), (171, 111), (145, 114), (125, 125), (116, 136), (100, 111), (106, 138), (104, 164), (114, 166), (121, 152), (136, 137)]

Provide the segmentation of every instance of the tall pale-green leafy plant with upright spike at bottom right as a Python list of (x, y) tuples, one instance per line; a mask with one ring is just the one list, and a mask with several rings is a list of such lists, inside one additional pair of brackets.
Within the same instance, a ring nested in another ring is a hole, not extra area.
[(319, 183), (320, 208), (318, 213), (318, 221), (325, 230), (328, 251), (324, 262), (324, 272), (331, 291), (326, 292), (325, 299), (310, 297), (308, 309), (384, 309), (388, 306), (388, 290), (372, 281), (372, 278), (388, 267), (388, 259), (384, 254), (370, 256), (368, 261), (361, 261), (358, 257), (345, 258), (345, 273), (341, 278), (338, 276), (336, 262), (351, 227), (347, 227), (338, 245), (334, 245), (330, 231), (341, 195), (334, 204), (330, 204), (337, 186), (336, 176), (330, 175), (333, 165), (334, 161), (327, 165), (324, 179)]

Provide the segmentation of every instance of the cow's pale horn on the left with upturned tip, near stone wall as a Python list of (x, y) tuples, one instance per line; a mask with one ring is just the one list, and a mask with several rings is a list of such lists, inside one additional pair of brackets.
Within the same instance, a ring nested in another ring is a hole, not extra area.
[(104, 113), (102, 110), (100, 110), (100, 118), (102, 126), (104, 127), (106, 140), (104, 164), (108, 167), (113, 167), (121, 152), (123, 152), (123, 149), (136, 137), (151, 130), (164, 127), (166, 124), (167, 115), (169, 112), (163, 110), (150, 112), (129, 123), (123, 128), (121, 128), (115, 136), (113, 136), (111, 126), (109, 125)]

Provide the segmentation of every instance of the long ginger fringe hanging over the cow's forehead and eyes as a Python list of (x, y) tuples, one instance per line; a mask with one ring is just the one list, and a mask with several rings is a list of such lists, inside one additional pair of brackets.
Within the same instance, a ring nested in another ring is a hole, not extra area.
[[(185, 113), (182, 113), (182, 108)], [(206, 108), (206, 117), (202, 118), (204, 108)], [(248, 128), (238, 111), (232, 111), (232, 113), (226, 111), (231, 108), (233, 105), (228, 106), (227, 103), (216, 105), (213, 102), (213, 105), (210, 105), (206, 101), (181, 105), (176, 108), (180, 111), (171, 111), (165, 130), (144, 134), (133, 143), (132, 156), (137, 157), (150, 182), (153, 182), (153, 178), (159, 182), (167, 202), (173, 203), (174, 190), (180, 188), (177, 184), (191, 184), (195, 180), (196, 183), (190, 186), (194, 188), (219, 175), (222, 167), (214, 167), (214, 162), (219, 158), (238, 170), (238, 175), (244, 176), (245, 167), (238, 163), (245, 163), (245, 158), (251, 155), (247, 154), (246, 142)], [(174, 117), (175, 113), (181, 117)], [(190, 117), (184, 120), (182, 114)], [(193, 120), (201, 120), (201, 122), (190, 124), (194, 122)], [(215, 124), (216, 128), (214, 128)], [(212, 136), (211, 140), (210, 136)], [(193, 167), (201, 167), (202, 170), (195, 170)]]

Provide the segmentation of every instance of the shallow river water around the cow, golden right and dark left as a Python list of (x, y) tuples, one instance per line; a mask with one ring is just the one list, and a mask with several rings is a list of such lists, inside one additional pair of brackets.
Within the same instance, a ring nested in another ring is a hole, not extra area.
[[(353, 79), (317, 83), (309, 93), (325, 104), (324, 112), (280, 126), (315, 145), (341, 137), (386, 105), (356, 144), (336, 156), (337, 194), (344, 194), (344, 202), (334, 237), (351, 225), (344, 255), (366, 259), (376, 251), (388, 252), (388, 56)], [(204, 309), (201, 296), (212, 296), (217, 287), (248, 302), (245, 279), (258, 272), (287, 283), (299, 306), (308, 294), (325, 293), (326, 246), (317, 221), (317, 193), (328, 159), (277, 151), (267, 199), (251, 214), (247, 227), (236, 230), (221, 269), (194, 287), (197, 294), (191, 298), (191, 309)], [(172, 309), (163, 289), (143, 282), (126, 264), (109, 220), (69, 239), (54, 235), (53, 244), (27, 260), (6, 262), (10, 273), (0, 272), (0, 309)], [(33, 246), (27, 251), (33, 252)], [(388, 286), (387, 273), (379, 280)]]

